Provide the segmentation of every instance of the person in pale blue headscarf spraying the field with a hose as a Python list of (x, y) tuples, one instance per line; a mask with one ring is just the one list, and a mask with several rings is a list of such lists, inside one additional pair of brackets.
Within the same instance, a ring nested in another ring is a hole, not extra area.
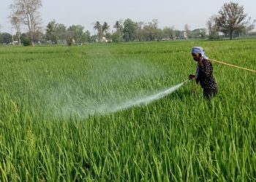
[(207, 99), (217, 95), (217, 83), (213, 76), (213, 67), (211, 62), (206, 57), (206, 52), (202, 47), (192, 47), (192, 57), (197, 61), (196, 74), (189, 74), (189, 79), (194, 79), (195, 82), (200, 82), (203, 88), (203, 96)]

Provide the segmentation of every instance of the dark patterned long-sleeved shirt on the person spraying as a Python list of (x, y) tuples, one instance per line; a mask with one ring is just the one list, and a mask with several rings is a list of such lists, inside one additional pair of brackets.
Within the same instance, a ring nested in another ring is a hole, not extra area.
[(196, 82), (200, 82), (201, 87), (204, 90), (217, 90), (217, 83), (213, 76), (213, 67), (209, 60), (203, 59), (200, 64), (197, 65), (198, 73)]

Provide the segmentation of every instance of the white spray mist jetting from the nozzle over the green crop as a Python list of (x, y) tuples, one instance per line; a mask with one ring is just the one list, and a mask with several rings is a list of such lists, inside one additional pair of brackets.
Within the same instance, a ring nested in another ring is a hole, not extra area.
[[(66, 79), (64, 83), (50, 87), (45, 94), (47, 95), (47, 112), (58, 118), (75, 116), (80, 119), (94, 114), (109, 114), (132, 106), (151, 103), (174, 92), (185, 83), (151, 93), (140, 89), (124, 90), (120, 85), (140, 82), (142, 78), (153, 79), (156, 75), (161, 77), (169, 75), (164, 68), (156, 68), (138, 60), (118, 61), (116, 66), (112, 64), (109, 68), (108, 64), (105, 64), (103, 67), (91, 66), (90, 72), (86, 73), (84, 79), (81, 78), (75, 82), (72, 79)], [(102, 69), (98, 70), (99, 67)], [(86, 82), (86, 79), (90, 81)], [(113, 87), (113, 85), (117, 86)], [(135, 89), (139, 87), (136, 86)], [(120, 88), (121, 90), (118, 90)]]

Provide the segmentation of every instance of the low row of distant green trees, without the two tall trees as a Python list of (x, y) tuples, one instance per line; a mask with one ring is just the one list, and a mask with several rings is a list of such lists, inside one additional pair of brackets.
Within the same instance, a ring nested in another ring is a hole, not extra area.
[(174, 40), (188, 38), (206, 38), (206, 28), (197, 28), (193, 31), (179, 31), (173, 27), (158, 28), (157, 20), (150, 23), (135, 22), (131, 19), (117, 20), (113, 25), (114, 31), (110, 32), (110, 25), (107, 22), (94, 24), (95, 34), (87, 30), (84, 31), (82, 25), (71, 25), (67, 27), (62, 23), (56, 23), (52, 20), (45, 28), (45, 33), (36, 31), (31, 33), (20, 33), (17, 31), (15, 35), (10, 33), (0, 33), (0, 43), (26, 44), (31, 42), (39, 42), (42, 44), (84, 44), (86, 42), (120, 42), (120, 41), (159, 41)]

